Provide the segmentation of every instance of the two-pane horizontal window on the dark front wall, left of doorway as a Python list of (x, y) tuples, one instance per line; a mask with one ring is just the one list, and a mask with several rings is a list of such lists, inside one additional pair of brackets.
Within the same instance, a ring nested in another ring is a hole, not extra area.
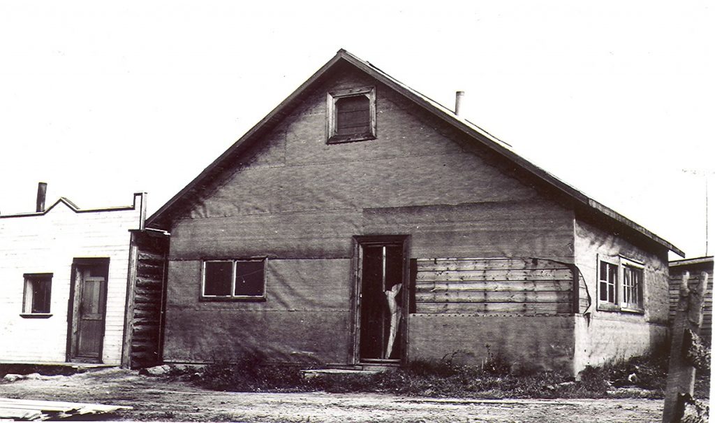
[(265, 298), (265, 259), (204, 261), (204, 299)]

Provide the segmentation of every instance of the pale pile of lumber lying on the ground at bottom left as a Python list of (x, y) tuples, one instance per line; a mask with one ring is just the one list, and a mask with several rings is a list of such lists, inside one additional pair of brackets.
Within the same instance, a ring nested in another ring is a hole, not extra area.
[(132, 409), (121, 405), (83, 404), (81, 402), (38, 401), (34, 399), (0, 398), (0, 421), (59, 420), (92, 414), (113, 413)]

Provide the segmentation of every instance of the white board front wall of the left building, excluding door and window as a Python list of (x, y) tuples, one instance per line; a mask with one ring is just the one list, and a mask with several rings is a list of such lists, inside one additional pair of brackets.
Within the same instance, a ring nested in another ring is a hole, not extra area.
[[(57, 203), (43, 214), (0, 218), (0, 360), (66, 361), (67, 321), (74, 258), (109, 258), (102, 361), (119, 364), (127, 298), (129, 229), (139, 228), (142, 195), (134, 208), (82, 211)], [(52, 314), (24, 319), (24, 273), (53, 273)]]

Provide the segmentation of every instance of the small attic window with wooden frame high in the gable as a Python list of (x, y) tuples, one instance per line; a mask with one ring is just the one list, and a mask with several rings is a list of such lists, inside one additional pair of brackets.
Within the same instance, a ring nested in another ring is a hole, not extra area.
[(375, 139), (375, 87), (327, 94), (327, 143)]

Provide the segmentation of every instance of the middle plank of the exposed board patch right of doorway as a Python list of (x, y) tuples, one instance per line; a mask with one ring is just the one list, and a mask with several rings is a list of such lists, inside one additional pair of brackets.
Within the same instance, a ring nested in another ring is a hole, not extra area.
[(571, 281), (459, 281), (459, 282), (415, 282), (415, 291), (571, 291)]

